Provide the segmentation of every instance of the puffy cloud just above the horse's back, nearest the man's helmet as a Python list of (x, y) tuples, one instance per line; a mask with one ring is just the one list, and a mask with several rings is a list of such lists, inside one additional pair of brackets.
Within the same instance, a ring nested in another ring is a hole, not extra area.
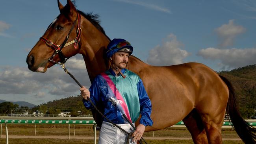
[(181, 64), (183, 59), (189, 55), (186, 50), (180, 49), (182, 43), (178, 42), (176, 36), (170, 34), (169, 41), (163, 42), (162, 46), (156, 46), (149, 52), (147, 62), (151, 65), (176, 65)]

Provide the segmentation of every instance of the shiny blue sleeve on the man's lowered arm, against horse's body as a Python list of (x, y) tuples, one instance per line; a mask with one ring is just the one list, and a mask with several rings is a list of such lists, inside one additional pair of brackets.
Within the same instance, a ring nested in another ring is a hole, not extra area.
[(152, 105), (141, 79), (137, 83), (137, 90), (141, 108), (141, 119), (139, 123), (143, 124), (144, 126), (152, 126), (153, 121), (150, 118)]

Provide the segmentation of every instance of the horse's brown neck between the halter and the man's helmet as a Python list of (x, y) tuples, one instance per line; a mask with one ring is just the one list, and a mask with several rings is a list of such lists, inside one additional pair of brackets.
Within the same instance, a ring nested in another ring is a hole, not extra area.
[(109, 38), (99, 31), (89, 20), (81, 20), (82, 36), (81, 50), (86, 69), (91, 82), (100, 73), (109, 67), (109, 61), (104, 59), (104, 51), (109, 43)]

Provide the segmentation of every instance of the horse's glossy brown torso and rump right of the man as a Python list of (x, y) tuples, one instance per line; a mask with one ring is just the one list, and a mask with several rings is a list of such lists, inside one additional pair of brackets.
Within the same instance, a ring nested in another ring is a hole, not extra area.
[[(152, 102), (151, 118), (154, 124), (147, 131), (172, 126), (195, 108), (208, 113), (204, 110), (206, 105), (214, 108), (219, 106), (216, 103), (222, 101), (222, 107), (226, 107), (227, 87), (219, 75), (206, 65), (152, 66), (140, 61), (133, 64), (130, 63), (129, 69), (140, 76)], [(220, 90), (223, 92), (219, 93)]]

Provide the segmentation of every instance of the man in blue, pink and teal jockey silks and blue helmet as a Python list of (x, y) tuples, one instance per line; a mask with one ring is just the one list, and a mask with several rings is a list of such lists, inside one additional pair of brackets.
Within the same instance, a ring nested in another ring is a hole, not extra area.
[[(151, 101), (148, 98), (141, 78), (134, 72), (127, 70), (129, 56), (133, 52), (131, 44), (124, 39), (113, 39), (109, 42), (106, 57), (111, 62), (111, 66), (106, 72), (96, 76), (90, 89), (82, 87), (81, 95), (83, 104), (87, 109), (93, 109), (88, 98), (96, 105), (98, 102), (104, 104), (104, 115), (106, 118), (117, 124), (127, 132), (133, 132), (133, 139), (130, 144), (135, 144), (140, 140), (146, 126), (152, 126), (150, 118)], [(139, 120), (139, 125), (134, 131), (132, 126), (123, 117), (134, 124)], [(99, 144), (124, 144), (125, 133), (119, 130), (106, 119), (103, 120)]]

